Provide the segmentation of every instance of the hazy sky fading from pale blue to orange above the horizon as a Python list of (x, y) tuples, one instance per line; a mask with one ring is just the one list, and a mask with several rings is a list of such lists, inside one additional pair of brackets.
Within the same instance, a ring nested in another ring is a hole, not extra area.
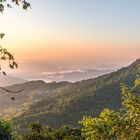
[(0, 14), (2, 45), (21, 67), (119, 65), (140, 56), (139, 0), (28, 1), (27, 11)]

